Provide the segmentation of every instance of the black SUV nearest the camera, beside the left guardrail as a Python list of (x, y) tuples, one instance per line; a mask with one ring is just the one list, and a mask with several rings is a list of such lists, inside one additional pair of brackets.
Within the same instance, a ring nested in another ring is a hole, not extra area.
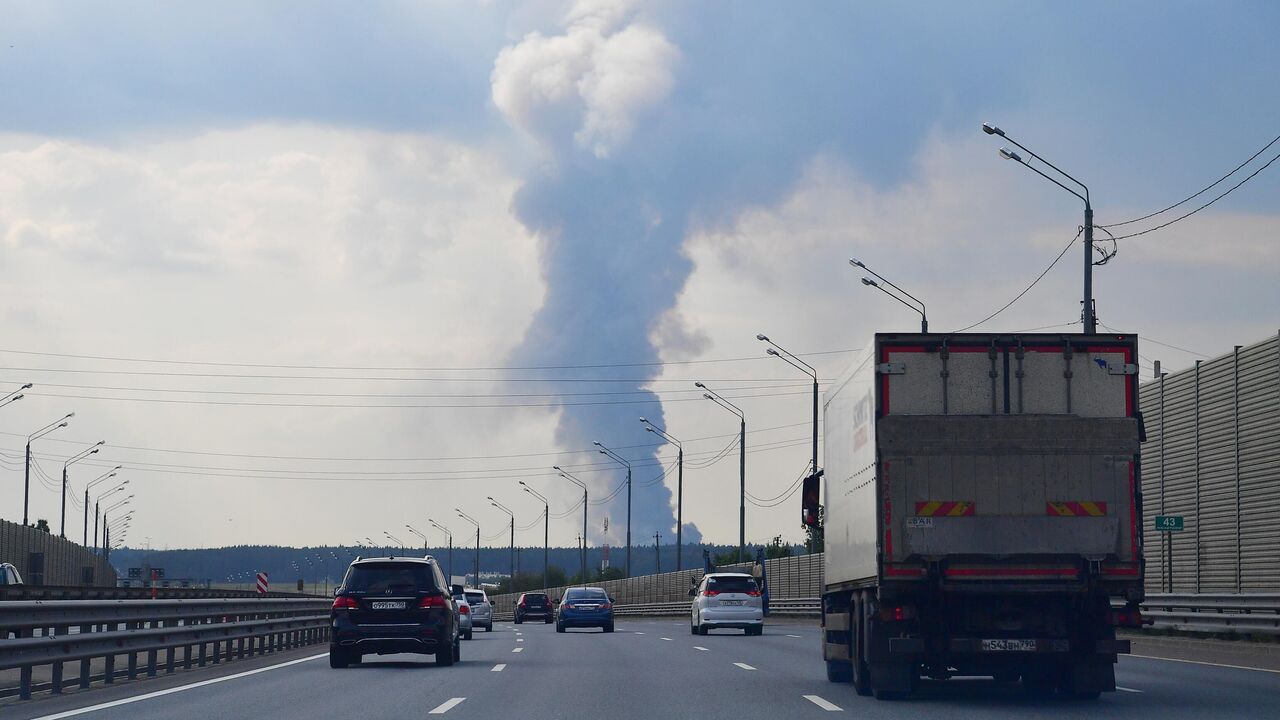
[(458, 611), (440, 566), (428, 557), (357, 557), (334, 592), (329, 666), (364, 655), (435, 655), (461, 659)]

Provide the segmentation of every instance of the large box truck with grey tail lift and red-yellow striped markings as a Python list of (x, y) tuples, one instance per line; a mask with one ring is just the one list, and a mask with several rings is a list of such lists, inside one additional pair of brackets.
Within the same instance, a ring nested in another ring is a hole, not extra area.
[(1138, 338), (881, 333), (826, 393), (832, 682), (989, 675), (1097, 698), (1140, 626)]

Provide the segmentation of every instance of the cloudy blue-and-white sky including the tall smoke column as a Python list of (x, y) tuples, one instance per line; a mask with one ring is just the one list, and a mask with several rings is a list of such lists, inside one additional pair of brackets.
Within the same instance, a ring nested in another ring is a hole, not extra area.
[[(808, 378), (1280, 133), (1271, 3), (0, 1), (0, 518), (131, 546), (800, 541)], [(1280, 143), (1196, 208), (1280, 152)], [(1277, 163), (1280, 165), (1280, 163)], [(1280, 169), (1094, 269), (1147, 375), (1280, 328)], [(1098, 238), (1103, 237), (1098, 232)], [(1102, 243), (1110, 247), (1108, 243)], [(1079, 332), (1082, 245), (977, 331)], [(1076, 323), (1076, 324), (1073, 324)], [(612, 455), (602, 454), (595, 442)], [(122, 491), (116, 482), (128, 479)], [(605, 529), (605, 521), (608, 528)], [(412, 529), (410, 529), (412, 528)], [(466, 542), (471, 542), (467, 539)]]

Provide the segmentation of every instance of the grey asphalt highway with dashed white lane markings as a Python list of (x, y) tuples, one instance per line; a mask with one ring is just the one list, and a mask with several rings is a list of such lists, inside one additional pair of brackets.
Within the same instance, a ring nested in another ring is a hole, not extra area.
[[(323, 646), (320, 646), (323, 648)], [(689, 633), (687, 621), (620, 620), (617, 632), (498, 624), (463, 642), (462, 662), (435, 667), (426, 656), (366, 657), (332, 670), (316, 648), (230, 664), (216, 676), (186, 674), (165, 683), (10, 705), (6, 717), (93, 720), (273, 717), (605, 719), (820, 717), (1280, 717), (1280, 674), (1126, 657), (1126, 688), (1096, 702), (1025, 697), (991, 680), (923, 682), (909, 701), (858, 697), (826, 680), (818, 628), (774, 624), (762, 637)]]

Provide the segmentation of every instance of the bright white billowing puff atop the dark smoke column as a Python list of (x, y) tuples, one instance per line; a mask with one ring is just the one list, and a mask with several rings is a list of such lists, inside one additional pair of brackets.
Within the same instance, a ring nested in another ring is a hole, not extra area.
[(493, 101), (521, 131), (552, 145), (570, 140), (596, 158), (625, 143), (644, 113), (675, 85), (680, 53), (631, 3), (584, 0), (564, 32), (526, 35), (494, 61)]

